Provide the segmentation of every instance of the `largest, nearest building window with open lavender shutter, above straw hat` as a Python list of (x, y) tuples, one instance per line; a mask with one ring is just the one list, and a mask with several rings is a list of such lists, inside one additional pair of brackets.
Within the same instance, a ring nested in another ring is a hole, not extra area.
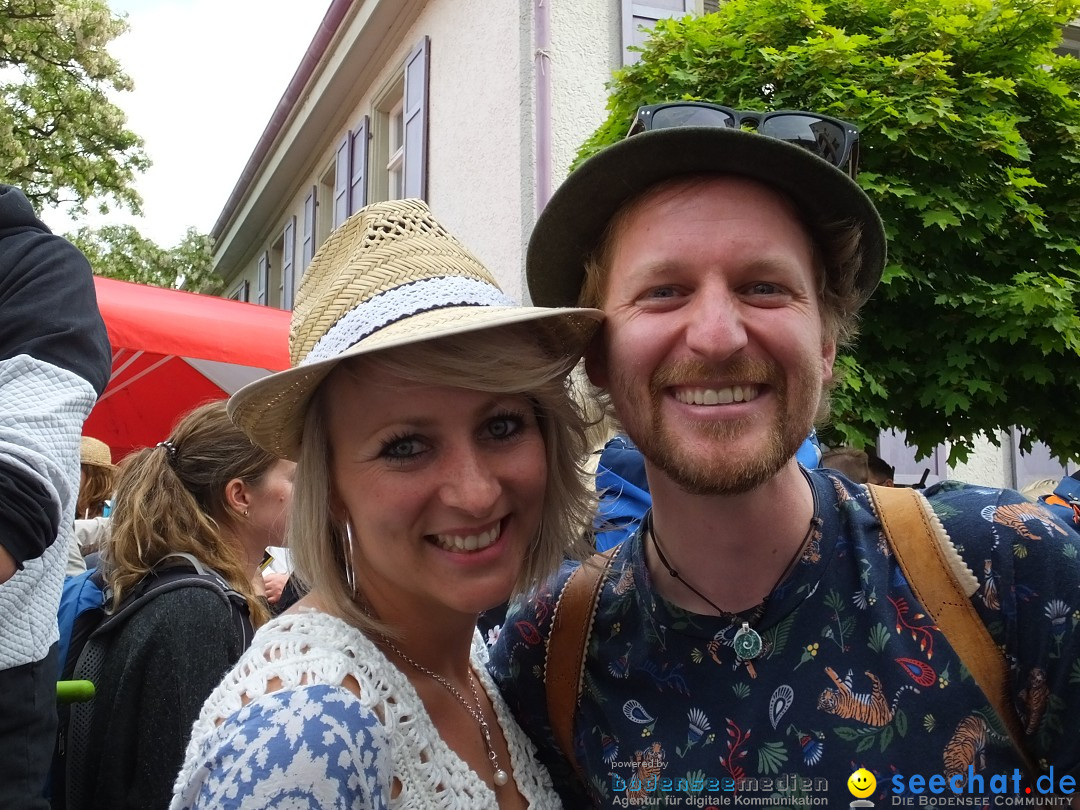
[(369, 179), (373, 200), (428, 197), (429, 49), (430, 40), (424, 37), (375, 102)]

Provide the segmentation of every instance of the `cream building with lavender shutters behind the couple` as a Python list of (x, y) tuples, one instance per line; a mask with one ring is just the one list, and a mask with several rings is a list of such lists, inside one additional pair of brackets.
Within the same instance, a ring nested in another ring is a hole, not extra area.
[[(611, 71), (663, 16), (716, 0), (332, 0), (212, 235), (226, 294), (291, 309), (300, 275), (361, 206), (419, 197), (525, 297), (538, 213), (605, 118)], [(1080, 54), (1080, 26), (1063, 50)], [(1024, 486), (1061, 475), (1012, 436), (950, 471), (902, 436), (880, 453), (904, 483), (946, 475)]]

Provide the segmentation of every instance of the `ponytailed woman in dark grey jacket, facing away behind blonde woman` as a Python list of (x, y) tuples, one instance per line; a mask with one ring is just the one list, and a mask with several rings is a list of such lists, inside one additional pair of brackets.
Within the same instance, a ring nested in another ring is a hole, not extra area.
[(258, 626), (267, 618), (252, 582), (264, 549), (284, 537), (294, 468), (248, 442), (221, 402), (195, 408), (167, 441), (125, 460), (103, 553), (112, 608), (163, 567), (197, 567), (192, 561), (245, 605), (176, 588), (117, 631), (97, 685), (85, 806), (168, 805), (191, 724), (243, 652), (239, 619)]

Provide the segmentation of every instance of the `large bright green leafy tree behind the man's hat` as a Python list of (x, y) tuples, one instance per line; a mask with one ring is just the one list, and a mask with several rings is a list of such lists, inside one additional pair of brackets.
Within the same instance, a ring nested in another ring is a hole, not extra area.
[(834, 436), (922, 453), (1012, 424), (1080, 458), (1077, 0), (729, 0), (661, 21), (582, 160), (638, 105), (810, 109), (862, 131), (889, 266), (839, 360)]

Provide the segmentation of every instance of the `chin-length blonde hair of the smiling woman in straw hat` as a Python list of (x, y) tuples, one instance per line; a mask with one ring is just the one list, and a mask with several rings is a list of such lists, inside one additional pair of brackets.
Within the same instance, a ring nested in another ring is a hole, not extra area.
[[(567, 557), (592, 551), (585, 539), (595, 511), (592, 488), (582, 474), (585, 420), (570, 396), (572, 359), (553, 356), (526, 325), (467, 333), (348, 360), (333, 374), (361, 375), (378, 367), (422, 384), (526, 395), (544, 440), (548, 481), (541, 528), (529, 546), (514, 592), (538, 586)], [(328, 378), (327, 378), (328, 379)], [(318, 590), (343, 618), (369, 633), (391, 633), (357, 604), (346, 578), (345, 528), (330, 512), (326, 384), (312, 397), (303, 422), (289, 526), (295, 572)]]

